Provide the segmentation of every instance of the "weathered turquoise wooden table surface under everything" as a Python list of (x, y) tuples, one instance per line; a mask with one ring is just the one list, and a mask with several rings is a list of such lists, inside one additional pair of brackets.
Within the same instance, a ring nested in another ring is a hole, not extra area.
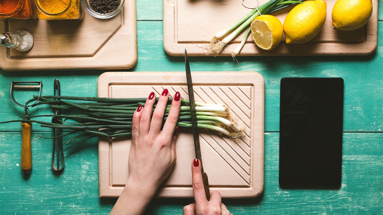
[[(189, 57), (193, 71), (257, 71), (265, 78), (265, 189), (257, 199), (223, 200), (240, 214), (383, 214), (383, 4), (378, 48), (368, 56)], [(162, 1), (137, 1), (138, 63), (129, 71), (184, 71), (184, 59), (162, 45)], [(0, 121), (23, 115), (12, 103), (11, 81), (43, 81), (52, 94), (54, 78), (63, 95), (97, 96), (105, 71), (0, 73)], [(281, 189), (278, 184), (279, 89), (282, 77), (342, 77), (344, 124), (342, 186), (332, 190)], [(27, 96), (25, 96), (27, 99)], [(31, 109), (33, 114), (43, 111)], [(65, 170), (51, 170), (51, 140), (33, 140), (33, 171), (21, 173), (20, 124), (0, 124), (0, 214), (107, 214), (116, 199), (98, 198), (97, 139), (65, 152)], [(34, 125), (32, 138), (51, 131)], [(178, 155), (180, 156), (180, 155)], [(189, 171), (188, 169), (185, 171)], [(155, 199), (147, 214), (182, 214), (192, 199)]]

